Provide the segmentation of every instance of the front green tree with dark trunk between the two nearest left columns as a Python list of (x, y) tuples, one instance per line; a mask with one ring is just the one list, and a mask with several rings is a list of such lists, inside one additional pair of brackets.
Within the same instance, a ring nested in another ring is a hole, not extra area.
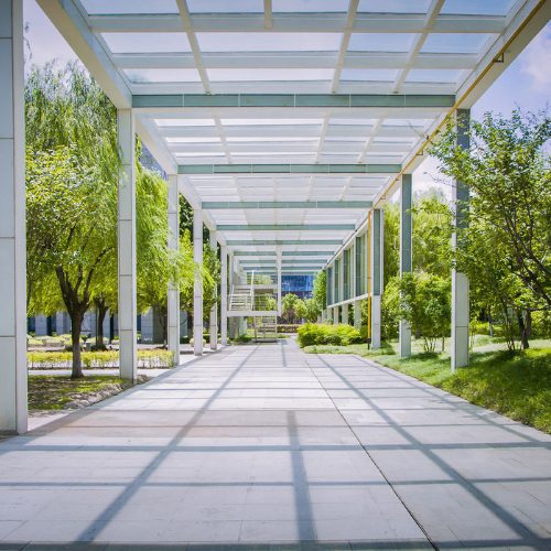
[(72, 377), (83, 377), (80, 326), (96, 277), (116, 251), (117, 194), (74, 149), (26, 154), (30, 311), (71, 317)]

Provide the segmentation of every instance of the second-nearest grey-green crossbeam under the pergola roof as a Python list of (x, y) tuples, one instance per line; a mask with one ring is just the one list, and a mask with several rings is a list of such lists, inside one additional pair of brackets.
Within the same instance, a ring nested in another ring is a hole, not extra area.
[(396, 174), (400, 164), (181, 164), (179, 174)]

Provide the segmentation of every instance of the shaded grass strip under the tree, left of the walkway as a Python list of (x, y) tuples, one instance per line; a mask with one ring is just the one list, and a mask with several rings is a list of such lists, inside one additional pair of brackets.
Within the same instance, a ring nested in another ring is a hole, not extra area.
[(115, 376), (88, 376), (73, 380), (67, 375), (30, 375), (29, 409), (71, 409), (73, 404), (78, 407), (78, 401), (97, 396), (98, 392), (114, 396), (130, 387), (130, 381)]

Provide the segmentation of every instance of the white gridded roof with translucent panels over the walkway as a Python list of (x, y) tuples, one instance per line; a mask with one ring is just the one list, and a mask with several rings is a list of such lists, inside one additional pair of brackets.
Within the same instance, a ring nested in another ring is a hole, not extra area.
[(242, 267), (311, 273), (550, 18), (544, 0), (37, 0)]

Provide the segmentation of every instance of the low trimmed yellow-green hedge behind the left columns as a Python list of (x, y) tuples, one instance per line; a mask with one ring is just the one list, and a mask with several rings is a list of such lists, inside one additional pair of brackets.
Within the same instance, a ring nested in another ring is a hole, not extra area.
[[(119, 353), (83, 352), (84, 369), (118, 368)], [(30, 352), (26, 354), (29, 369), (69, 369), (73, 361), (71, 352)], [(138, 367), (144, 369), (173, 367), (172, 353), (169, 350), (138, 350)]]

